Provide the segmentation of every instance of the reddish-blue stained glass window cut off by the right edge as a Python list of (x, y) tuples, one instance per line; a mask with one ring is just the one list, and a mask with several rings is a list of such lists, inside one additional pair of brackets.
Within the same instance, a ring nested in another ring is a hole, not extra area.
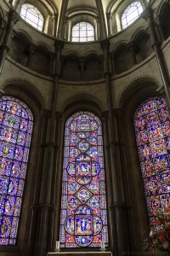
[(141, 104), (134, 125), (150, 222), (170, 207), (170, 123), (164, 98)]

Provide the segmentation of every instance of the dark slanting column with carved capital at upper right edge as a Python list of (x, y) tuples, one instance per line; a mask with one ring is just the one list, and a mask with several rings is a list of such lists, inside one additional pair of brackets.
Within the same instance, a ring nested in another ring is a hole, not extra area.
[(170, 113), (170, 88), (169, 88), (169, 74), (167, 71), (167, 63), (164, 61), (164, 56), (161, 51), (160, 43), (156, 38), (156, 27), (153, 21), (153, 10), (150, 7), (144, 10), (143, 18), (148, 23), (148, 27), (150, 31), (150, 41), (156, 54), (156, 61), (160, 70), (161, 80), (165, 90), (167, 108)]

